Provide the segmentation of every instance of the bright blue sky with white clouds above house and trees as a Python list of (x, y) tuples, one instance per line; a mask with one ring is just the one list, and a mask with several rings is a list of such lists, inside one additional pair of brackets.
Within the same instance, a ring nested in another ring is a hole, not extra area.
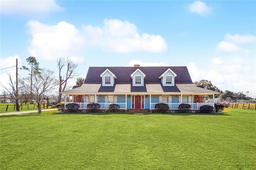
[(256, 1), (1, 0), (0, 83), (15, 76), (16, 59), (28, 66), (33, 56), (58, 77), (57, 59), (68, 57), (78, 77), (89, 67), (187, 66), (193, 82), (255, 98), (255, 9)]

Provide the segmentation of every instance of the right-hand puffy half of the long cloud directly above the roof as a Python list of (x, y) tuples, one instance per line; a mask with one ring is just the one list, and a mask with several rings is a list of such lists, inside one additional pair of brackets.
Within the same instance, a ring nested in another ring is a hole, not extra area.
[(117, 19), (105, 19), (102, 28), (83, 26), (83, 35), (88, 46), (118, 53), (160, 53), (168, 48), (161, 36), (147, 33), (140, 35), (136, 25)]

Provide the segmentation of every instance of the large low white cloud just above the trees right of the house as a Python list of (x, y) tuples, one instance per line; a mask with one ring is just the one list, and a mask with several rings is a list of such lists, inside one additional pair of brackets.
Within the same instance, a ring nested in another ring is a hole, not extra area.
[(206, 79), (222, 91), (247, 90), (252, 97), (256, 95), (256, 77), (252, 76), (255, 69), (242, 57), (216, 57), (210, 61), (206, 71), (202, 71), (195, 63), (189, 63), (187, 67), (193, 82)]

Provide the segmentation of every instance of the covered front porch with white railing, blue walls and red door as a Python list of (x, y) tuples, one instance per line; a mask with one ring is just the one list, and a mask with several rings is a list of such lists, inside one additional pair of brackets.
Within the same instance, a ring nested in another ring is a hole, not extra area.
[[(64, 105), (66, 105), (66, 95)], [(208, 94), (81, 94), (72, 95), (72, 102), (79, 105), (81, 110), (86, 110), (89, 103), (98, 103), (100, 109), (109, 109), (110, 104), (117, 104), (120, 109), (150, 109), (154, 110), (157, 103), (166, 103), (170, 109), (178, 109), (181, 103), (191, 105), (191, 110), (199, 110), (203, 105), (214, 107), (214, 94), (211, 103), (206, 98)]]

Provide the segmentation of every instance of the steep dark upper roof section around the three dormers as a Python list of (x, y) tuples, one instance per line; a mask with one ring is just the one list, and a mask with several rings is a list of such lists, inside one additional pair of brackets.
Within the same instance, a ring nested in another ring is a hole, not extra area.
[(102, 84), (102, 77), (100, 75), (109, 69), (117, 79), (115, 84), (132, 84), (130, 75), (140, 69), (146, 77), (144, 84), (156, 84), (160, 83), (159, 77), (168, 69), (174, 71), (177, 74), (175, 77), (175, 84), (190, 84), (193, 83), (188, 73), (187, 67), (89, 67), (86, 75), (85, 84)]

